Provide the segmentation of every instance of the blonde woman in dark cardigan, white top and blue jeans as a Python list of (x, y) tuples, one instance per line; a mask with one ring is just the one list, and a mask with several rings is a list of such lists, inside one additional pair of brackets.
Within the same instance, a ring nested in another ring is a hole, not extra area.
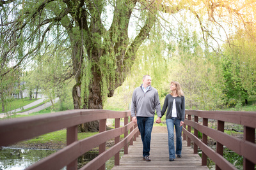
[(161, 112), (163, 117), (166, 108), (168, 108), (166, 111), (166, 124), (168, 130), (169, 160), (173, 161), (175, 159), (175, 148), (173, 141), (174, 126), (176, 132), (176, 154), (178, 158), (181, 157), (181, 131), (185, 118), (185, 97), (180, 87), (180, 83), (177, 81), (172, 81), (170, 90), (172, 92), (166, 95), (164, 99), (164, 106)]

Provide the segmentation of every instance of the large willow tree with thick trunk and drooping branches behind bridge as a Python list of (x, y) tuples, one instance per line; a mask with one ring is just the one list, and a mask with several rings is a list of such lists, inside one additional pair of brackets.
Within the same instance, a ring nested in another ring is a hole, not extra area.
[[(52, 44), (68, 48), (76, 80), (74, 108), (102, 109), (104, 99), (124, 82), (154, 24), (172, 32), (165, 13), (171, 17), (180, 11), (193, 13), (204, 38), (206, 34), (214, 38), (206, 29), (209, 22), (221, 27), (221, 17), (244, 20), (239, 16), (248, 6), (236, 0), (1, 0), (0, 8), (1, 66), (10, 60), (12, 69), (26, 66), (37, 54), (44, 56)], [(135, 32), (133, 38), (130, 31)], [(0, 71), (1, 76), (8, 73)], [(95, 131), (97, 126), (97, 122), (86, 124), (84, 131)]]

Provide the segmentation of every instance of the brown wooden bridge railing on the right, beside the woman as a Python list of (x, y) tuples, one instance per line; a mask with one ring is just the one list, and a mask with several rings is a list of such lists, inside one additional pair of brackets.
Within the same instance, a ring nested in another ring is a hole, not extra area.
[[(202, 119), (202, 124), (198, 122)], [(216, 120), (217, 127), (208, 127), (209, 119)], [(224, 132), (225, 122), (243, 126), (243, 139), (236, 138)], [(191, 133), (191, 127), (194, 133)], [(198, 147), (202, 150), (202, 166), (207, 165), (207, 157), (216, 164), (216, 169), (236, 169), (223, 157), (223, 146), (243, 156), (243, 169), (255, 169), (256, 112), (249, 111), (199, 111), (186, 110), (186, 119), (183, 127), (183, 139), (191, 145), (194, 143), (194, 153)], [(198, 131), (202, 133), (202, 141), (198, 138)], [(186, 138), (187, 137), (187, 138)], [(207, 146), (207, 139), (216, 140), (216, 151)]]

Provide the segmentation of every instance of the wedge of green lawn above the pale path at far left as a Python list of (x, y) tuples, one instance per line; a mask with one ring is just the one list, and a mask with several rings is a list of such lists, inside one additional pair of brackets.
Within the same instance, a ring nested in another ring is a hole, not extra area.
[[(36, 101), (36, 99), (29, 100), (28, 97), (24, 99), (10, 99), (7, 101), (7, 103), (4, 104), (4, 111), (1, 110), (0, 113), (6, 113), (7, 111), (22, 108), (23, 106), (26, 106), (27, 104), (30, 104), (34, 101)], [(0, 103), (0, 106), (2, 106), (2, 103)]]

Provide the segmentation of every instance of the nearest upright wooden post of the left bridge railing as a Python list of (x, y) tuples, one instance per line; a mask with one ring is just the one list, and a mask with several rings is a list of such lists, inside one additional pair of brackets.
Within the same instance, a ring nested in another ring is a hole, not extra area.
[[(77, 125), (67, 128), (67, 146), (77, 141)], [(77, 169), (77, 159), (72, 161), (67, 165), (67, 170), (76, 170)]]

